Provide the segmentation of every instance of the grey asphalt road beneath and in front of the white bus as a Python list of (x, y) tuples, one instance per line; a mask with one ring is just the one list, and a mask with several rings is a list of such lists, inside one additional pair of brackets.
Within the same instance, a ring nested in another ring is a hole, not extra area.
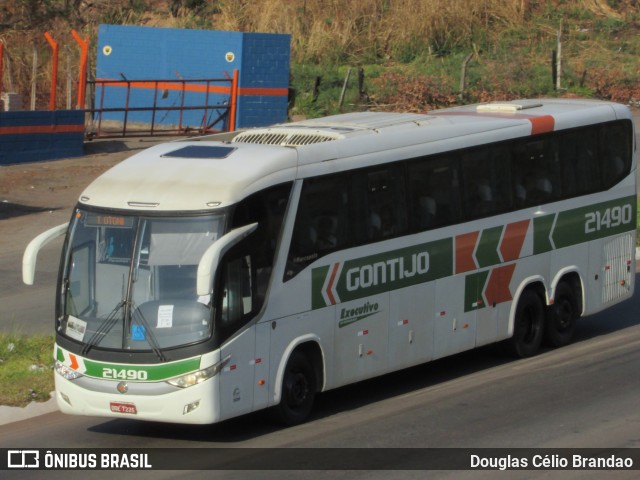
[[(294, 428), (273, 426), (263, 412), (195, 427), (55, 412), (0, 427), (0, 448), (640, 448), (639, 311), (640, 294), (636, 293), (627, 302), (582, 319), (572, 345), (543, 351), (531, 359), (514, 361), (484, 348), (327, 392), (320, 396), (311, 421)], [(252, 454), (239, 455), (242, 459)], [(427, 475), (402, 471), (403, 461), (410, 462), (411, 457), (397, 460), (397, 470), (392, 472), (327, 471), (322, 475), (332, 479), (496, 475), (477, 471)], [(228, 463), (214, 458), (207, 463), (211, 469), (225, 465), (229, 468)], [(331, 465), (329, 458), (326, 468)], [(19, 473), (20, 478), (42, 478), (42, 472)], [(509, 478), (554, 478), (555, 474), (561, 475), (558, 478), (602, 478), (604, 472), (508, 473)], [(106, 474), (85, 472), (83, 478)], [(284, 475), (316, 478), (318, 474), (295, 471)], [(47, 478), (68, 475), (47, 472)], [(154, 471), (137, 473), (136, 478), (186, 475)], [(211, 478), (212, 472), (188, 475)], [(276, 471), (215, 472), (215, 478), (282, 476), (283, 472)], [(638, 472), (607, 472), (606, 477), (631, 479)]]

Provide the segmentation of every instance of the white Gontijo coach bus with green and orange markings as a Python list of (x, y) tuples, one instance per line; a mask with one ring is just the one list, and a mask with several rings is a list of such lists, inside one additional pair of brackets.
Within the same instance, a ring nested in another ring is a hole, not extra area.
[(70, 414), (304, 421), (342, 385), (503, 342), (569, 343), (629, 298), (627, 108), (351, 113), (152, 147), (80, 196), (55, 308)]

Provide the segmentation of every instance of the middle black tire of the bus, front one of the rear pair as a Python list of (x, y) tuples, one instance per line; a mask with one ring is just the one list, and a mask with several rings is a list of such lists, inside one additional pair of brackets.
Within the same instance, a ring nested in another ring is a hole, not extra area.
[(538, 353), (544, 320), (544, 305), (540, 296), (532, 289), (522, 292), (513, 321), (513, 336), (507, 341), (509, 353), (518, 358)]

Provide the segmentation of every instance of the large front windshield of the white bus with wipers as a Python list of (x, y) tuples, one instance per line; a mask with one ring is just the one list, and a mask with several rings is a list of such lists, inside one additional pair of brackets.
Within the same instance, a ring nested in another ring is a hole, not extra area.
[(58, 332), (94, 347), (155, 351), (210, 338), (198, 263), (225, 215), (140, 217), (76, 210), (64, 253)]

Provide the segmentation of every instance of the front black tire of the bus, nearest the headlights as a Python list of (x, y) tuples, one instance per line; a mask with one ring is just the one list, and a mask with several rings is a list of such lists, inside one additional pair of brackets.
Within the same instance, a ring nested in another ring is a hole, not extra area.
[(296, 350), (284, 370), (280, 403), (275, 407), (277, 420), (286, 426), (303, 423), (311, 413), (315, 395), (313, 365), (304, 353)]

